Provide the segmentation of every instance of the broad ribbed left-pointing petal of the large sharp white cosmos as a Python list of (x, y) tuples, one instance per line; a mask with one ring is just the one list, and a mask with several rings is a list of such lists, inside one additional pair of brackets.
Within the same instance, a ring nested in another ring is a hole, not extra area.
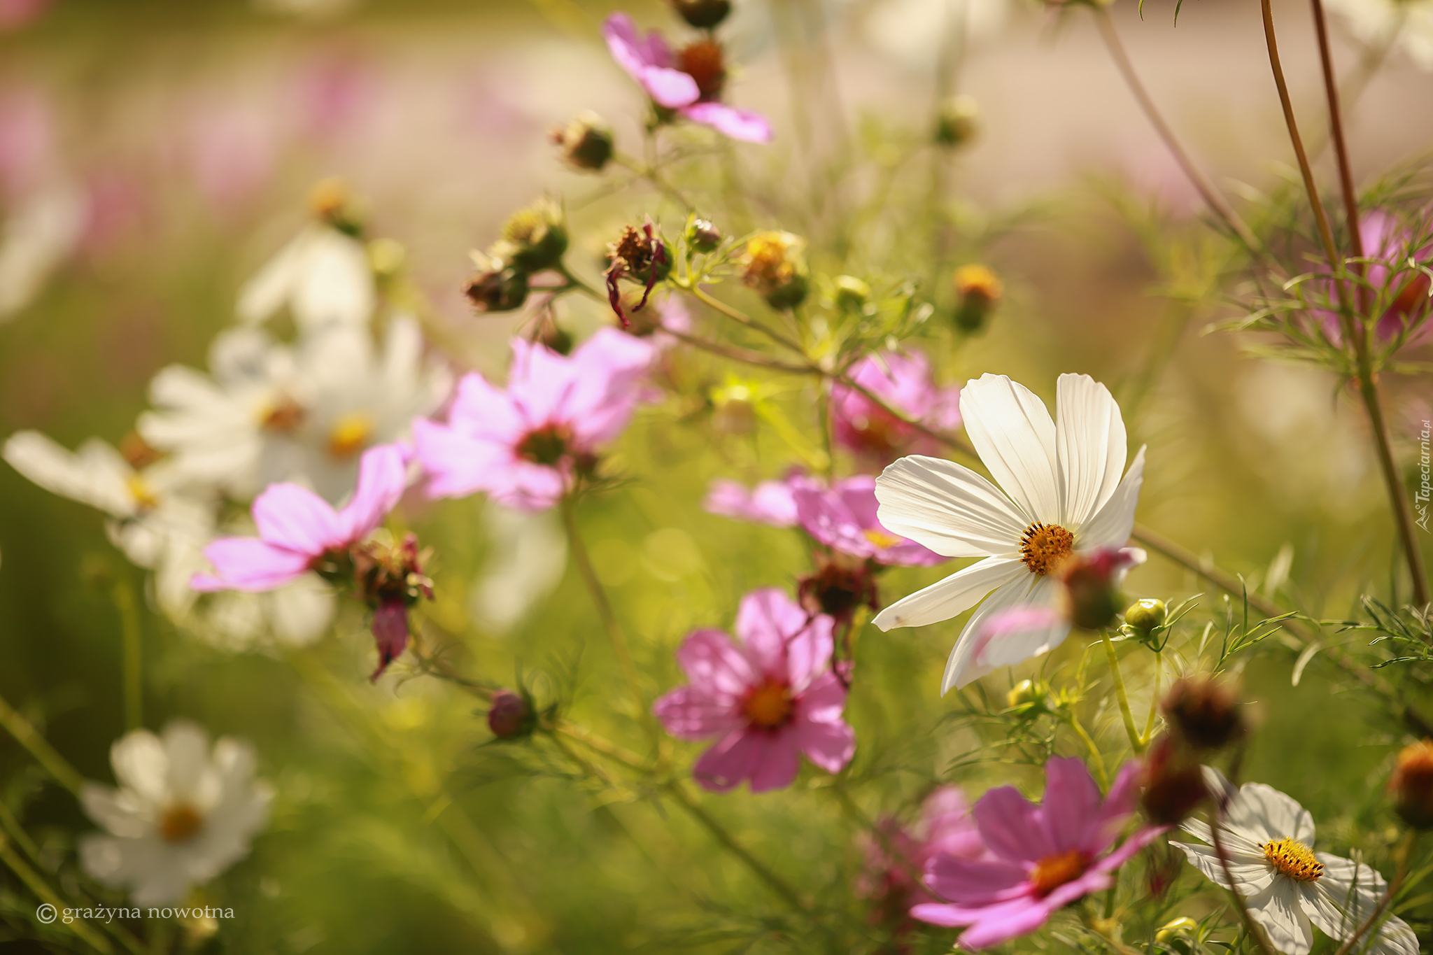
[(990, 481), (953, 461), (910, 455), (876, 478), (881, 525), (944, 557), (1019, 550), (1029, 521)]

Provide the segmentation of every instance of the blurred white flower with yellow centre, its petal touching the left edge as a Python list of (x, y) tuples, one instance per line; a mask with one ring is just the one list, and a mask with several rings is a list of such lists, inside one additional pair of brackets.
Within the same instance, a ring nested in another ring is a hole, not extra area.
[(214, 533), (214, 517), (202, 488), (172, 462), (135, 468), (99, 438), (72, 452), (39, 431), (10, 435), (0, 457), (52, 494), (107, 514), (110, 541), (138, 567), (155, 571), (166, 614), (181, 617), (192, 606), (189, 577), (205, 566), (201, 548)]

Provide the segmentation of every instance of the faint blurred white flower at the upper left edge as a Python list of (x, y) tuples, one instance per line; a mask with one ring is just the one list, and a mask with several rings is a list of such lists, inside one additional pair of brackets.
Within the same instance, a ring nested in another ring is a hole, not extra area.
[(20, 202), (0, 233), (0, 322), (29, 305), (85, 232), (83, 196), (52, 186)]

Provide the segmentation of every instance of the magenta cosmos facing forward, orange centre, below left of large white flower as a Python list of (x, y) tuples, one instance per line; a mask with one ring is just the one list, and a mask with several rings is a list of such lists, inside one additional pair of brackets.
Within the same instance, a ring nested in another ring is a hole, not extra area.
[(698, 783), (727, 792), (745, 779), (751, 792), (767, 792), (791, 785), (801, 753), (828, 773), (851, 762), (845, 687), (827, 670), (831, 626), (767, 588), (742, 597), (739, 643), (721, 630), (694, 630), (682, 641), (676, 661), (688, 686), (652, 712), (678, 739), (716, 737), (692, 769)]

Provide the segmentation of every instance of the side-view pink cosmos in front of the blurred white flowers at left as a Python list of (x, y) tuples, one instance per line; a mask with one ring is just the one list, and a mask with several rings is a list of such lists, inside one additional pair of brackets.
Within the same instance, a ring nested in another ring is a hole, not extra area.
[(396, 444), (364, 451), (358, 487), (340, 510), (297, 484), (271, 484), (254, 498), (258, 537), (221, 537), (203, 548), (214, 574), (189, 586), (215, 590), (274, 590), (302, 577), (325, 556), (348, 551), (371, 534), (408, 484), (407, 452)]

